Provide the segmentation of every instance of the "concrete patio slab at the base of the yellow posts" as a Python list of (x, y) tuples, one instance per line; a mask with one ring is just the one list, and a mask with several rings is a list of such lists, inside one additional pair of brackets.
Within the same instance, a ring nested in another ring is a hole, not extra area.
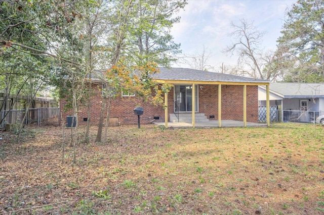
[[(156, 123), (155, 125), (165, 125), (165, 123)], [(195, 128), (218, 128), (218, 120), (210, 120), (209, 122), (195, 122)], [(224, 127), (244, 127), (244, 122), (234, 120), (222, 120), (222, 128)], [(265, 123), (247, 122), (247, 127), (267, 127)], [(187, 122), (168, 122), (168, 128), (192, 128), (191, 123)]]

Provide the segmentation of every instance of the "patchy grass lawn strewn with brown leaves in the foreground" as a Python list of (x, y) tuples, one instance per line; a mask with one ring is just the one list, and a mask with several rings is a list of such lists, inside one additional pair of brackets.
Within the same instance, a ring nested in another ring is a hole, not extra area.
[(324, 214), (322, 126), (91, 133), (75, 165), (59, 127), (0, 133), (0, 214)]

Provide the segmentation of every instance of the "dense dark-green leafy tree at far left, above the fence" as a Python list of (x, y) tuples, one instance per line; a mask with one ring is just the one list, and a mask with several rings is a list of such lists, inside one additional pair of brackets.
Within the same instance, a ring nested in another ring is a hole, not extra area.
[[(83, 93), (80, 80), (85, 80), (86, 71), (82, 55), (84, 44), (78, 33), (80, 12), (91, 4), (90, 0), (0, 2), (0, 59), (3, 62), (0, 66), (6, 80), (16, 80), (17, 85), (11, 85), (12, 91), (23, 93), (27, 89), (27, 108), (32, 106), (32, 98), (41, 87), (39, 83), (50, 84), (50, 80), (51, 84), (61, 87), (65, 77), (72, 77), (70, 80), (74, 82), (70, 89), (74, 100), (71, 104), (77, 113), (77, 99)], [(23, 81), (17, 81), (20, 78)], [(8, 85), (5, 89), (8, 92)]]

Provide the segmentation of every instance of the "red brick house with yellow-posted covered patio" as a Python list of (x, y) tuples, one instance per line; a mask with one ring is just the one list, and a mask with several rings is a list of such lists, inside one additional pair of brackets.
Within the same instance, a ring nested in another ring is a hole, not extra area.
[[(269, 85), (268, 81), (185, 68), (159, 70), (152, 78), (157, 83), (173, 86), (165, 94), (166, 109), (143, 102), (136, 95), (120, 95), (111, 102), (110, 118), (117, 119), (119, 124), (136, 124), (137, 116), (133, 110), (141, 106), (144, 109), (141, 123), (165, 122), (167, 126), (168, 122), (179, 120), (192, 122), (194, 127), (194, 123), (200, 120), (258, 122), (258, 86)], [(92, 88), (91, 122), (96, 124), (102, 101), (99, 79), (93, 79)], [(66, 116), (71, 116), (71, 112), (64, 113), (64, 105), (65, 101), (62, 100), (60, 109), (65, 120)], [(86, 110), (86, 106), (80, 106), (80, 124), (87, 121)]]

